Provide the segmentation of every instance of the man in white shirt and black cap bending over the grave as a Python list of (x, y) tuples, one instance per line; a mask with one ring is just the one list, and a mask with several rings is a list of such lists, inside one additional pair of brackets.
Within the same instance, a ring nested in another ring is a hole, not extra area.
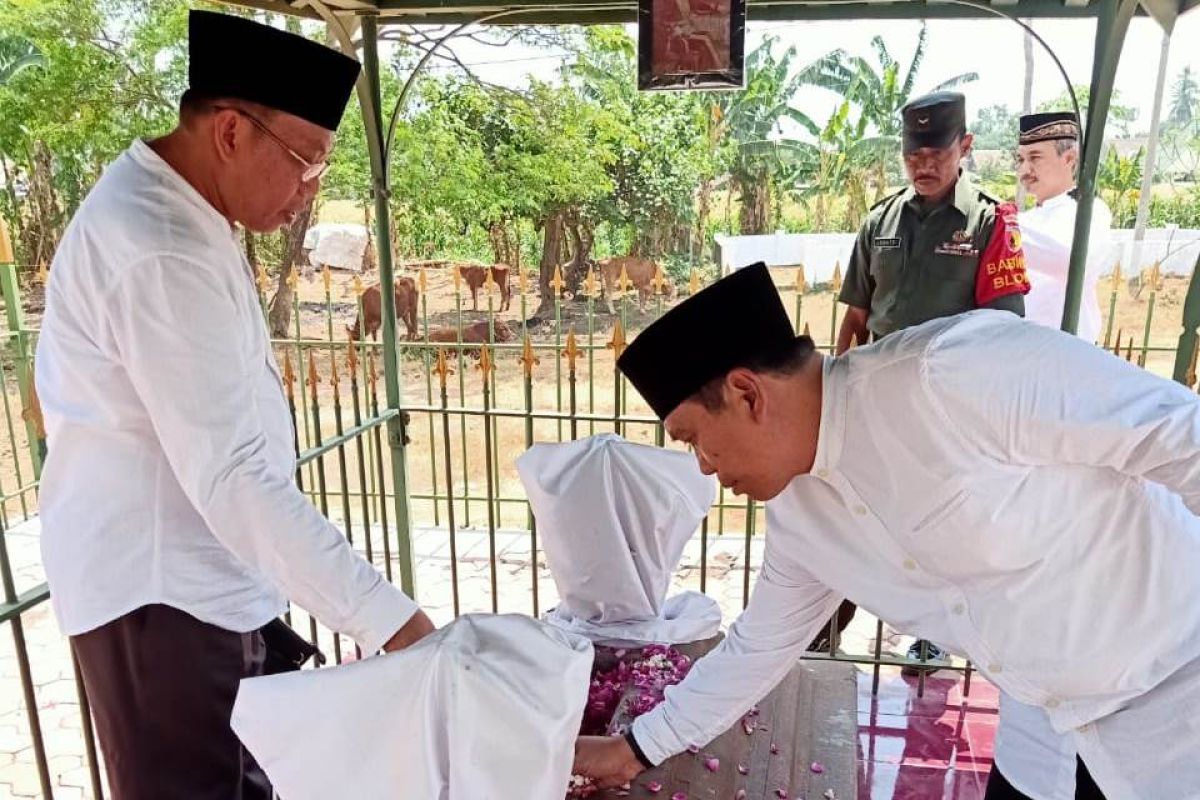
[(702, 471), (767, 501), (767, 549), (726, 639), (626, 739), (581, 739), (577, 771), (616, 783), (706, 745), (848, 597), (1042, 708), (1109, 800), (1196, 796), (1186, 387), (986, 309), (824, 357), (762, 264), (673, 308), (619, 366)]

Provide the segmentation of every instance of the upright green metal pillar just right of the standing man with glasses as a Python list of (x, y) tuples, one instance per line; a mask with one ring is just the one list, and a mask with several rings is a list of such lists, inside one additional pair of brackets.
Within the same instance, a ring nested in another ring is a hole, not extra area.
[[(371, 155), (371, 178), (374, 181), (376, 246), (379, 257), (379, 293), (383, 301), (383, 374), (389, 409), (401, 404), (400, 353), (396, 339), (396, 295), (390, 290), (395, 279), (391, 263), (391, 210), (388, 203), (388, 151), (384, 146), (383, 98), (379, 91), (379, 37), (374, 17), (362, 18), (362, 74), (366, 92), (359, 94), (362, 122)], [(413, 567), (413, 523), (408, 501), (408, 457), (404, 447), (403, 415), (388, 421), (388, 445), (391, 449), (391, 479), (396, 503), (396, 534), (400, 559), (400, 585), (409, 596), (416, 593), (416, 572)], [(386, 535), (386, 531), (384, 531)]]

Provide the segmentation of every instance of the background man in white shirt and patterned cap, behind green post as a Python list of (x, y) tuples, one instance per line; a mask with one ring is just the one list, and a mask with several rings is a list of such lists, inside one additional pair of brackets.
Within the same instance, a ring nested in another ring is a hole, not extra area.
[[(1025, 318), (1060, 327), (1067, 297), (1070, 246), (1075, 239), (1079, 121), (1072, 112), (1049, 112), (1026, 114), (1020, 125), (1016, 178), (1038, 201), (1034, 207), (1018, 215), (1031, 287), (1025, 296)], [(1100, 305), (1096, 287), (1111, 237), (1112, 213), (1097, 197), (1092, 205), (1084, 300), (1076, 331), (1084, 341), (1093, 344), (1100, 335)]]

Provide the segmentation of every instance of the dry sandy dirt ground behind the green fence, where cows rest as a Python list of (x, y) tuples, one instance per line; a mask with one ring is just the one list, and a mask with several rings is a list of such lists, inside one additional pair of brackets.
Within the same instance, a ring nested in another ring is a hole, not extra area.
[[(416, 277), (415, 272), (409, 272)], [(470, 324), (485, 320), (490, 313), (485, 293), (480, 293), (480, 311), (470, 308), (470, 296), (462, 288), (462, 294), (456, 296), (454, 281), (449, 270), (427, 269), (425, 271), (427, 293), (424, 297), (419, 323), (422, 331), (440, 326), (452, 326), (456, 324)], [(785, 306), (792, 314), (793, 321), (799, 311), (799, 329), (808, 326), (818, 345), (828, 345), (832, 341), (832, 332), (836, 321), (833, 317), (833, 293), (828, 287), (818, 288), (803, 295), (797, 309), (797, 296), (794, 291), (794, 270), (778, 270), (776, 283), (784, 296)], [(373, 283), (374, 278), (367, 278), (366, 283)], [(682, 295), (686, 294), (686, 287), (682, 287)], [(451, 493), (455, 498), (455, 516), (457, 525), (487, 525), (498, 527), (523, 527), (527, 524), (527, 510), (520, 499), (523, 495), (516, 469), (515, 458), (526, 449), (529, 441), (546, 441), (570, 439), (572, 435), (582, 437), (592, 433), (618, 429), (613, 421), (614, 396), (619, 391), (623, 398), (622, 408), (628, 415), (641, 416), (647, 422), (631, 422), (619, 426), (620, 432), (630, 439), (653, 443), (661, 435), (659, 426), (650, 420), (649, 409), (637, 397), (636, 392), (625, 386), (624, 381), (618, 383), (614, 369), (614, 354), (608, 347), (613, 336), (613, 326), (617, 318), (622, 319), (623, 332), (631, 337), (637, 330), (653, 320), (660, 309), (667, 307), (666, 301), (654, 300), (646, 311), (640, 311), (635, 300), (618, 301), (617, 317), (610, 315), (605, 303), (595, 300), (589, 303), (584, 300), (568, 301), (560, 305), (559, 318), (562, 326), (557, 327), (554, 320), (542, 320), (529, 323), (528, 318), (534, 312), (538, 302), (534, 281), (529, 281), (528, 294), (522, 302), (517, 281), (512, 281), (512, 307), (510, 311), (494, 312), (497, 321), (505, 321), (517, 332), (517, 339), (502, 344), (496, 350), (494, 374), (491, 375), (487, 403), (488, 408), (498, 409), (493, 415), (491, 431), (485, 433), (482, 416), (478, 413), (484, 407), (484, 380), (479, 369), (479, 361), (474, 357), (460, 356), (451, 347), (446, 349), (451, 374), (446, 380), (446, 405), (449, 414), (440, 413), (440, 385), (438, 375), (433, 371), (436, 363), (436, 350), (425, 348), (420, 343), (406, 343), (403, 351), (402, 369), (402, 402), (406, 408), (412, 409), (408, 425), (410, 444), (406, 449), (407, 459), (407, 489), (412, 495), (416, 495), (412, 503), (413, 523), (421, 525), (446, 524), (446, 503), (439, 500), (436, 506), (431, 499), (420, 499), (421, 495), (442, 494), (446, 492), (446, 464), (451, 475)], [(1183, 296), (1187, 291), (1187, 279), (1181, 276), (1168, 276), (1164, 278), (1163, 288), (1154, 296), (1153, 318), (1150, 330), (1151, 348), (1170, 348), (1174, 350), (1175, 339), (1180, 331), (1180, 318), (1182, 313)], [(1098, 288), (1100, 308), (1108, 327), (1109, 307), (1112, 296), (1110, 281), (1102, 281)], [(24, 309), (26, 326), (36, 329), (41, 320), (42, 291), (41, 285), (35, 281), (26, 287), (24, 293)], [(342, 271), (331, 271), (330, 291), (326, 296), (322, 276), (314, 275), (310, 279), (301, 279), (298, 284), (298, 302), (300, 311), (300, 338), (302, 342), (328, 342), (330, 332), (332, 341), (346, 342), (346, 325), (352, 324), (358, 313), (356, 297), (354, 294), (353, 275)], [(499, 296), (492, 297), (493, 308), (499, 307)], [(840, 312), (839, 312), (840, 313)], [(1122, 342), (1122, 357), (1127, 351), (1130, 341), (1136, 347), (1133, 350), (1133, 359), (1141, 357), (1141, 344), (1146, 331), (1147, 314), (1150, 313), (1150, 294), (1144, 293), (1140, 297), (1134, 297), (1124, 285), (1117, 291), (1116, 318), (1112, 324), (1110, 337), (1111, 343), (1120, 335)], [(528, 324), (528, 326), (527, 326)], [(713, 320), (719, 325), (720, 320)], [(294, 321), (293, 321), (294, 326)], [(1104, 330), (1104, 329), (1102, 329)], [(522, 338), (528, 331), (530, 344), (538, 363), (533, 367), (532, 380), (529, 383), (529, 397), (527, 398), (527, 385), (524, 380), (524, 367), (521, 361)], [(566, 347), (566, 335), (574, 331), (577, 345), (582, 350), (575, 361), (574, 399), (571, 385), (571, 361), (564, 355)], [(380, 353), (379, 344), (371, 345), (376, 353)], [(32, 463), (25, 445), (24, 423), (20, 419), (22, 401), (17, 391), (17, 360), (14, 359), (14, 344), (10, 344), (7, 357), (0, 368), (4, 371), (5, 384), (7, 386), (7, 415), (5, 421), (11, 423), (13, 435), (7, 434), (7, 429), (0, 428), (0, 494), (10, 494), (19, 486), (28, 485), (32, 476)], [(298, 429), (301, 450), (328, 440), (338, 432), (338, 423), (334, 411), (334, 387), (331, 385), (331, 360), (336, 357), (338, 373), (338, 399), (342, 403), (341, 429), (347, 429), (354, 425), (354, 409), (350, 395), (350, 383), (347, 377), (347, 350), (341, 344), (330, 348), (326, 345), (311, 344), (287, 344), (281, 343), (276, 348), (281, 363), (284, 360), (292, 361), (294, 367), (302, 365), (302, 372), (307, 373), (310, 354), (318, 372), (319, 383), (317, 385), (317, 405), (312, 408), (311, 386), (296, 384), (298, 405)], [(360, 353), (366, 353), (361, 349)], [(1146, 366), (1158, 374), (1170, 375), (1174, 363), (1174, 353), (1151, 351), (1146, 356)], [(360, 417), (368, 416), (370, 409), (370, 381), (364, 375), (364, 366), (359, 365), (360, 380), (356, 391), (360, 404)], [(377, 361), (377, 369), (382, 373), (382, 360)], [(296, 368), (301, 373), (301, 368)], [(384, 386), (382, 379), (377, 383), (377, 402), (385, 403)], [(527, 403), (528, 401), (528, 403)], [(572, 405), (574, 403), (574, 405)], [(595, 419), (580, 419), (574, 425), (568, 419), (529, 419), (526, 411), (532, 408), (534, 414), (571, 416), (574, 408), (575, 416)], [(458, 414), (455, 409), (474, 410), (474, 414)], [(317, 431), (314, 416), (320, 419), (320, 429)], [(486, 437), (491, 437), (491, 458), (485, 447)], [(319, 438), (318, 438), (319, 437)], [(16, 440), (17, 446), (12, 443)], [(385, 441), (385, 440), (384, 440)], [(361, 446), (361, 456), (359, 449)], [(14, 457), (16, 450), (16, 457)], [(382, 450), (382, 453), (379, 452)], [(379, 489), (380, 480), (385, 485), (386, 492), (391, 492), (394, 486), (390, 480), (390, 449), (378, 447), (372, 437), (366, 437), (361, 443), (355, 443), (334, 451), (322, 459), (320, 467), (324, 475), (319, 474), (317, 464), (302, 471), (302, 480), (310, 489), (319, 487), (322, 479), (325, 482), (326, 493), (330, 501), (337, 506), (342, 503), (340, 489), (344, 486), (349, 489), (353, 501), (348, 500), (349, 516), (361, 518), (370, 516), (377, 518), (380, 513)], [(344, 459), (344, 479), (343, 479)], [(379, 470), (380, 461), (384, 470)], [(488, 467), (492, 467), (488, 470)], [(361, 470), (360, 470), (361, 467)], [(18, 471), (20, 475), (18, 476)], [(491, 471), (492, 486), (488, 491), (488, 471)], [(380, 475), (383, 479), (380, 479)], [(365, 489), (365, 491), (364, 491)], [(463, 504), (462, 498), (469, 494), (473, 500)], [(370, 505), (360, 509), (361, 495), (366, 495)], [(319, 501), (319, 495), (314, 495)], [(494, 503), (488, 503), (491, 497)], [(505, 499), (506, 498), (506, 499)], [(744, 506), (733, 504), (731, 506), (716, 509), (710, 518), (714, 531), (719, 530), (743, 530), (745, 522)], [(24, 516), (23, 512), (31, 510), (34, 498), (26, 498), (25, 507), (22, 507), (19, 498), (12, 498), (4, 504), (4, 510), (13, 517)], [(374, 509), (372, 510), (372, 506)], [(491, 521), (488, 509), (491, 507)], [(761, 516), (758, 517), (761, 524)]]

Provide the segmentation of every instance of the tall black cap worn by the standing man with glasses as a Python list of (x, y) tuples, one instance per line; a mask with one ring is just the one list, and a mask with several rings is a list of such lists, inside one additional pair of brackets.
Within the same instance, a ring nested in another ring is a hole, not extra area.
[(246, 100), (336, 131), (359, 62), (270, 25), (211, 11), (187, 18), (188, 94)]

